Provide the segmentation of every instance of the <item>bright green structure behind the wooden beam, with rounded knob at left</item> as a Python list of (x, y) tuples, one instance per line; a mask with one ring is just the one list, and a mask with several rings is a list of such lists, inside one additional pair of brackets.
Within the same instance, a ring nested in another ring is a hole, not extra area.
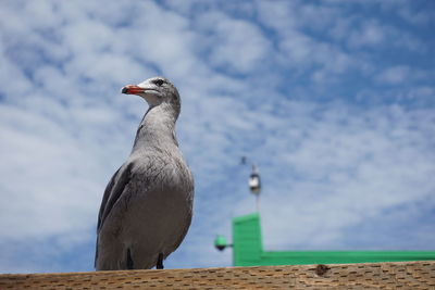
[[(215, 247), (226, 240), (217, 236)], [(374, 262), (434, 261), (435, 251), (264, 251), (258, 213), (233, 219), (234, 266), (347, 264)]]

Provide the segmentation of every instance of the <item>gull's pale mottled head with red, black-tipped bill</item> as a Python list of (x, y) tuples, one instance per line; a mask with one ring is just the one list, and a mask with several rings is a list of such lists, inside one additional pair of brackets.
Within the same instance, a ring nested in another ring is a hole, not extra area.
[(177, 89), (164, 77), (151, 77), (139, 85), (127, 85), (122, 93), (142, 97), (150, 106), (167, 103), (179, 112), (181, 101)]

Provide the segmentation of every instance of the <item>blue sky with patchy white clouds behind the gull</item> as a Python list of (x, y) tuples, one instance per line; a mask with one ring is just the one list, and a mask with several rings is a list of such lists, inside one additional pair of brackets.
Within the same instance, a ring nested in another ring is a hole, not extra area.
[(195, 217), (165, 265), (268, 250), (434, 250), (434, 1), (0, 2), (0, 272), (92, 270), (97, 212), (154, 75), (183, 99)]

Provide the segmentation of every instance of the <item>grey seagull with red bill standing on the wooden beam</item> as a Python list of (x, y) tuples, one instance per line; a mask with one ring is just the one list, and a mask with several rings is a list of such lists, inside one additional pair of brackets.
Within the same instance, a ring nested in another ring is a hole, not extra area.
[(194, 178), (175, 136), (177, 89), (152, 77), (122, 88), (149, 109), (127, 161), (110, 179), (97, 224), (97, 270), (163, 268), (190, 226)]

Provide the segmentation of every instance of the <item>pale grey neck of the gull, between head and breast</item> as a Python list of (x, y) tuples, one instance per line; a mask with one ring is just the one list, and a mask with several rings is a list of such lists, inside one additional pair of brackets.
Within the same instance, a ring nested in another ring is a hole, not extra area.
[(145, 113), (137, 129), (132, 152), (137, 152), (150, 147), (165, 150), (166, 147), (177, 147), (175, 136), (175, 122), (177, 114), (169, 104), (162, 103), (150, 106)]

